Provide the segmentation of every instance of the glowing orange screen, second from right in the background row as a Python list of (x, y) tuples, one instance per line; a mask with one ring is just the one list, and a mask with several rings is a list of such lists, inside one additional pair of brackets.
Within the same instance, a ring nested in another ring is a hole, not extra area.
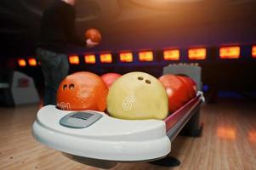
[(222, 47), (219, 48), (220, 59), (238, 59), (240, 57), (240, 47)]

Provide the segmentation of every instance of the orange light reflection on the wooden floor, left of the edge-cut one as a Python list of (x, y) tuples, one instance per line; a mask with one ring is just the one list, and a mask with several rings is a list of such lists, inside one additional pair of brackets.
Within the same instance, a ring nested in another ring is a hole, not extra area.
[(233, 127), (218, 127), (217, 136), (220, 139), (234, 140), (236, 139), (236, 129)]

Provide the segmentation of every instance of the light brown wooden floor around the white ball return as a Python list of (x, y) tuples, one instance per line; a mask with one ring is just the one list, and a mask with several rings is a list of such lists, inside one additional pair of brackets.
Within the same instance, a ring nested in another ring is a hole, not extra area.
[[(85, 170), (97, 169), (71, 161), (60, 152), (37, 143), (31, 137), (37, 105), (0, 108), (1, 170)], [(217, 105), (202, 105), (204, 129), (201, 138), (178, 136), (171, 156), (179, 167), (158, 167), (148, 163), (119, 163), (124, 169), (256, 169), (256, 104), (225, 99)]]

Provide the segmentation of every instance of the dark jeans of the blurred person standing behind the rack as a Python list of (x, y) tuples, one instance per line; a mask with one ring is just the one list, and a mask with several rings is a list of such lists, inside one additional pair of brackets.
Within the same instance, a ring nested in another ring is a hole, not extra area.
[(56, 105), (56, 92), (69, 72), (67, 55), (37, 48), (37, 59), (41, 63), (44, 77), (43, 105)]

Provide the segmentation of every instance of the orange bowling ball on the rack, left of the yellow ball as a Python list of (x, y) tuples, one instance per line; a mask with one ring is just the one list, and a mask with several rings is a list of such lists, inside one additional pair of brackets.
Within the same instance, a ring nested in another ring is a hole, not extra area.
[(57, 92), (57, 108), (67, 111), (105, 111), (108, 88), (102, 79), (92, 72), (81, 71), (60, 83)]

